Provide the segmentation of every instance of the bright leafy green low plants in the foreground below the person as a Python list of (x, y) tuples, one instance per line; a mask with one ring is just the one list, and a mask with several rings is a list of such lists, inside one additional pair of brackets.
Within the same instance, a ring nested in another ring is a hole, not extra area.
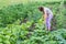
[[(28, 25), (28, 24), (26, 24)], [(31, 32), (22, 25), (10, 24), (0, 29), (0, 43), (2, 44), (66, 44), (66, 30), (45, 31), (42, 28)]]

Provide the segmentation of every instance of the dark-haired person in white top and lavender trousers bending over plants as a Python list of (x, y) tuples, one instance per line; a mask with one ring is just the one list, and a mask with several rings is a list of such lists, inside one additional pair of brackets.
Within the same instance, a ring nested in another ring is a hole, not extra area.
[(53, 12), (48, 9), (48, 8), (45, 8), (45, 7), (40, 7), (38, 10), (41, 12), (43, 12), (43, 16), (44, 16), (44, 22), (45, 22), (45, 25), (46, 25), (46, 29), (48, 31), (51, 31), (51, 21), (53, 19)]

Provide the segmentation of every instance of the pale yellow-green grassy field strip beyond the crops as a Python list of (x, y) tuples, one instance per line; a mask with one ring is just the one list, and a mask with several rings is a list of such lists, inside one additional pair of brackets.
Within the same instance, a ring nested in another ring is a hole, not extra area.
[[(37, 1), (37, 0), (0, 0), (0, 9), (2, 7), (7, 7), (7, 6), (10, 6), (10, 4), (18, 4), (18, 3), (28, 3), (28, 2), (34, 2), (34, 1)], [(62, 0), (38, 0), (37, 2), (59, 2)]]

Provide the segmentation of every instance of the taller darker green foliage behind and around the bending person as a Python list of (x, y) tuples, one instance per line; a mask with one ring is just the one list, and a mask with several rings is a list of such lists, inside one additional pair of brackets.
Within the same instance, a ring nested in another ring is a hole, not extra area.
[[(30, 7), (31, 6), (31, 7)], [(56, 28), (65, 28), (65, 8), (63, 3), (28, 3), (28, 4), (13, 4), (0, 10), (0, 26), (7, 26), (15, 22), (16, 20), (25, 22), (29, 21), (38, 22), (42, 16), (42, 12), (38, 11), (38, 7), (44, 6), (52, 9), (55, 15)], [(61, 10), (62, 9), (62, 10)]]

